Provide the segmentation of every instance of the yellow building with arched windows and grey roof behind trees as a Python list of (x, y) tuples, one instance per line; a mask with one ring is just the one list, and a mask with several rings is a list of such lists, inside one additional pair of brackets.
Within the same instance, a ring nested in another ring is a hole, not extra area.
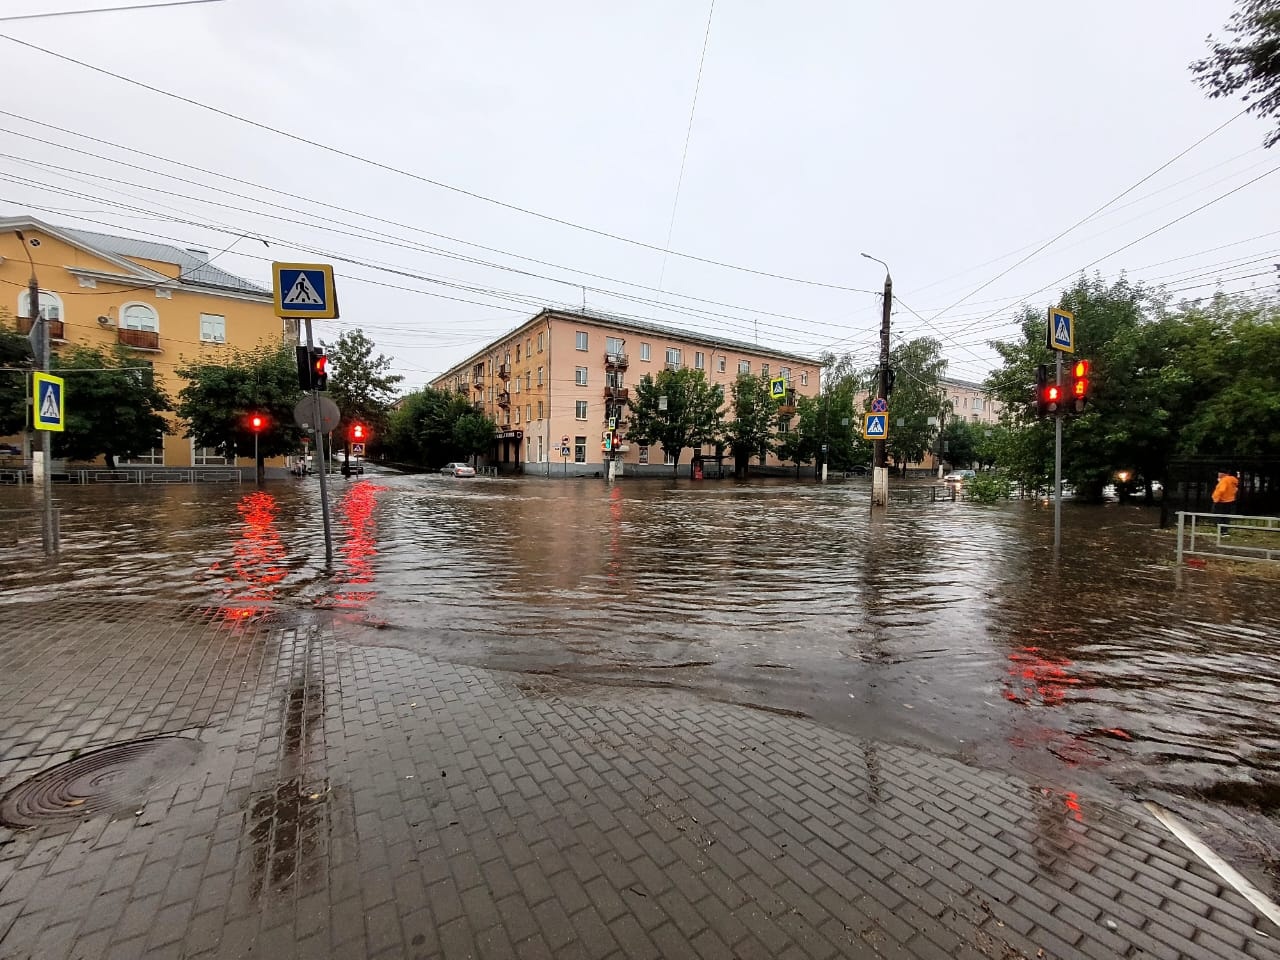
[[(177, 399), (183, 381), (175, 367), (297, 338), (294, 321), (275, 316), (270, 289), (210, 260), (204, 250), (55, 227), (31, 216), (0, 218), (0, 323), (31, 330), (27, 284), (35, 270), (54, 353), (68, 344), (122, 344), (138, 362), (150, 364), (157, 383)], [(67, 399), (76, 402), (73, 390)], [(216, 451), (196, 448), (172, 416), (170, 424), (148, 453), (127, 462), (229, 462)]]

